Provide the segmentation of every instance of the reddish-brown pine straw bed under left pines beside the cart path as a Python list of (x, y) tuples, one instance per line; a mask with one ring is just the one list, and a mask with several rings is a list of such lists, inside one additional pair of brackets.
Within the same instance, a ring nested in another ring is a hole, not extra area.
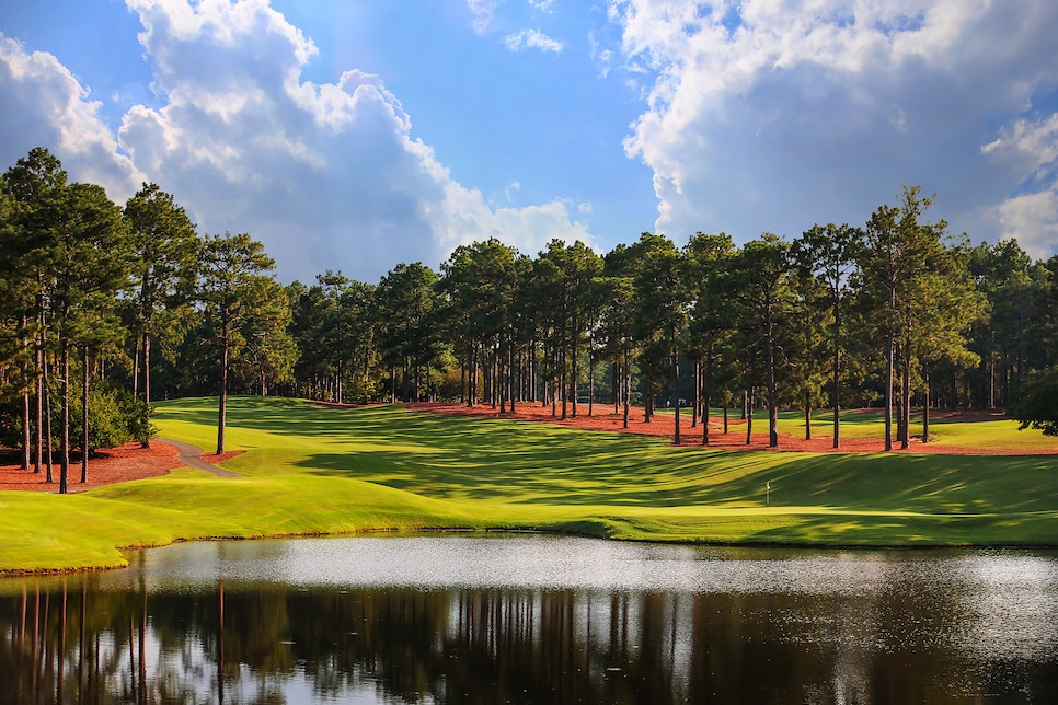
[[(229, 451), (222, 455), (203, 454), (207, 463), (219, 463), (242, 454), (244, 451)], [(5, 450), (0, 454), (0, 490), (20, 489), (27, 492), (59, 492), (59, 459), (54, 455), (51, 464), (51, 479), (47, 482), (47, 471), (42, 466), (39, 473), (33, 470), (22, 470), (19, 456), (14, 451)], [(70, 470), (67, 476), (67, 489), (70, 493), (84, 492), (93, 487), (113, 485), (131, 479), (158, 477), (168, 475), (174, 467), (182, 467), (184, 463), (176, 456), (176, 449), (169, 443), (151, 441), (150, 448), (141, 448), (138, 441), (133, 441), (120, 448), (100, 450), (89, 456), (88, 482), (81, 482), (81, 456), (76, 453), (70, 458)]]

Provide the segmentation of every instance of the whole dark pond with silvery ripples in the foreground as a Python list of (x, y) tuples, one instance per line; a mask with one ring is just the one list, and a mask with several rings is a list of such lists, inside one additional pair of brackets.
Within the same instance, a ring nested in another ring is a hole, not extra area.
[(1058, 553), (187, 543), (0, 580), (0, 702), (1055, 703)]

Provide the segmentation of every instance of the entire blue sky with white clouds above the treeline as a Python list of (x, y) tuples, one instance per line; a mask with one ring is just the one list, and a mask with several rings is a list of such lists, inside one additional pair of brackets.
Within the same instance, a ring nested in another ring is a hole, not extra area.
[(248, 232), (284, 282), (495, 236), (863, 224), (1058, 253), (1054, 0), (0, 0), (0, 170)]

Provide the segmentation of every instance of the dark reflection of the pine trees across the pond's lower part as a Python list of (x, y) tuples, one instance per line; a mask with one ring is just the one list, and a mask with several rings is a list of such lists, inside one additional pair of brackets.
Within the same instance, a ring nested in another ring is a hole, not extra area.
[(1055, 702), (1054, 608), (1048, 644), (982, 656), (979, 600), (897, 576), (826, 596), (8, 580), (0, 701)]

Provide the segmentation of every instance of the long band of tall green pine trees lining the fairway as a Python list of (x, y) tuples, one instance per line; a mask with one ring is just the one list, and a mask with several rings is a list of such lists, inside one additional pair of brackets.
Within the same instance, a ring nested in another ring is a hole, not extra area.
[(0, 444), (48, 482), (57, 464), (66, 492), (73, 460), (83, 479), (96, 449), (149, 442), (158, 400), (218, 396), (222, 452), (228, 394), (625, 420), (766, 408), (772, 446), (792, 408), (832, 409), (835, 448), (846, 407), (884, 409), (886, 450), (907, 448), (912, 413), (928, 441), (938, 408), (1058, 435), (1058, 256), (973, 245), (933, 200), (905, 186), (862, 224), (792, 240), (646, 232), (530, 255), (491, 239), (436, 269), (284, 286), (250, 234), (199, 234), (157, 184), (114, 204), (36, 148), (0, 181)]

